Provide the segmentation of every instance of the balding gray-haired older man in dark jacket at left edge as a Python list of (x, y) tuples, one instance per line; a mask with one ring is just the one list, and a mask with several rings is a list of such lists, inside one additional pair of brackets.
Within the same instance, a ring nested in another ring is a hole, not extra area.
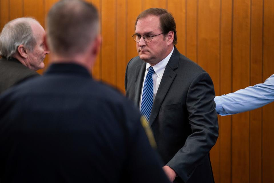
[(29, 17), (9, 21), (0, 34), (0, 93), (44, 68), (45, 30)]

